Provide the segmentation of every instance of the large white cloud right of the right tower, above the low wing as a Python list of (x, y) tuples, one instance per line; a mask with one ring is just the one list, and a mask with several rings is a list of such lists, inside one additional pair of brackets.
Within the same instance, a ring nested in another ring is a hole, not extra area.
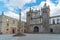
[(57, 0), (57, 2), (58, 2), (58, 4), (55, 5), (55, 4), (52, 3), (51, 1), (47, 1), (47, 4), (50, 5), (51, 16), (60, 15), (60, 0)]

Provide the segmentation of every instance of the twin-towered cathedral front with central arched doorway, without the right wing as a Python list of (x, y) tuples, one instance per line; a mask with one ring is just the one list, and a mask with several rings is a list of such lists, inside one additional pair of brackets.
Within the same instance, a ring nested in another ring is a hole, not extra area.
[(41, 10), (27, 12), (27, 32), (49, 32), (50, 8), (45, 3)]

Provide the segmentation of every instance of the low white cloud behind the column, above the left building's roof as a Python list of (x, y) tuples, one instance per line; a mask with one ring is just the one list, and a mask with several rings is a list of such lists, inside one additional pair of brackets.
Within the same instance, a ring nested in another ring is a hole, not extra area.
[[(22, 21), (25, 21), (26, 22), (26, 12), (27, 11), (29, 11), (29, 8), (27, 8), (26, 10), (23, 10), (21, 12), (21, 20)], [(4, 15), (9, 16), (11, 18), (15, 18), (17, 20), (19, 19), (19, 14), (16, 14), (16, 13), (14, 13), (12, 11), (5, 12)]]

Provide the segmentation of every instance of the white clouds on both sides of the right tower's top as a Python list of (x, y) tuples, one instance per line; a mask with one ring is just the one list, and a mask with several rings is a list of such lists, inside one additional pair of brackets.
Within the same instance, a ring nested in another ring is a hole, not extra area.
[[(50, 16), (57, 16), (60, 15), (60, 0), (57, 0), (58, 4), (55, 5), (52, 1), (47, 0), (46, 3), (47, 5), (50, 6)], [(42, 1), (40, 5), (34, 6), (33, 9), (41, 9), (43, 7), (45, 1)]]

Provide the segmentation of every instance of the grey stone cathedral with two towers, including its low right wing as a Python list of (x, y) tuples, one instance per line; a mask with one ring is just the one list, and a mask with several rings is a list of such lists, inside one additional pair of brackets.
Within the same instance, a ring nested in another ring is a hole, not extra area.
[(50, 17), (50, 7), (45, 3), (40, 10), (30, 10), (27, 12), (28, 33), (60, 33), (60, 15)]

